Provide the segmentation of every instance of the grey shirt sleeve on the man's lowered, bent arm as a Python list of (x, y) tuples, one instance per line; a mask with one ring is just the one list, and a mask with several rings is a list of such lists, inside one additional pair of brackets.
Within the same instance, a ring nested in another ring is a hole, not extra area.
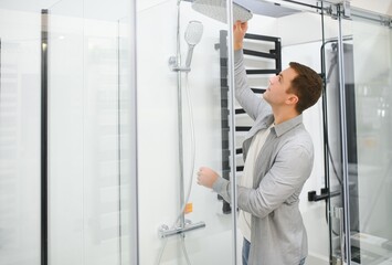
[[(269, 171), (264, 176), (257, 189), (237, 186), (237, 205), (251, 214), (265, 218), (293, 195), (299, 195), (300, 189), (311, 172), (312, 149), (304, 145), (283, 147)], [(212, 189), (231, 202), (231, 182), (219, 178)], [(297, 199), (297, 198), (295, 198)]]

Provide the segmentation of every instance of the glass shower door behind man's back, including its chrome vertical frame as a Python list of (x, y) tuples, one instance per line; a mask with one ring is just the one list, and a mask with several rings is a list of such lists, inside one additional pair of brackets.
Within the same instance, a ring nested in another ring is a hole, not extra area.
[(330, 258), (386, 265), (392, 263), (391, 18), (350, 11), (346, 20), (341, 9), (339, 38), (326, 45)]

